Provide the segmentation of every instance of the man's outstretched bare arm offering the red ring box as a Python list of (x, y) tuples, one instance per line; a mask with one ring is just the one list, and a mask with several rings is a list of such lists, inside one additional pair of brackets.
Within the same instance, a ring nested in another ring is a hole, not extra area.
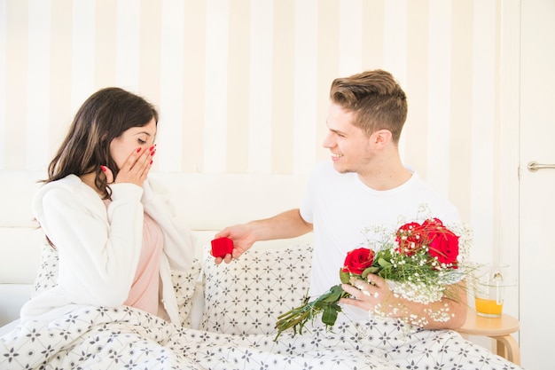
[(301, 217), (299, 209), (290, 209), (270, 218), (226, 227), (215, 234), (215, 238), (227, 237), (233, 240), (233, 251), (224, 258), (216, 257), (215, 263), (230, 263), (232, 258), (241, 256), (256, 241), (289, 239), (311, 231), (312, 224)]

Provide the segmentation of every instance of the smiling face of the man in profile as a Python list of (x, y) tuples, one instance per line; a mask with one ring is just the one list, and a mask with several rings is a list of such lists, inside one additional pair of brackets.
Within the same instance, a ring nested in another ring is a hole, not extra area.
[(363, 130), (353, 125), (354, 114), (341, 106), (330, 106), (327, 117), (328, 134), (324, 147), (332, 153), (333, 167), (340, 173), (361, 173), (374, 157), (371, 152), (371, 138)]

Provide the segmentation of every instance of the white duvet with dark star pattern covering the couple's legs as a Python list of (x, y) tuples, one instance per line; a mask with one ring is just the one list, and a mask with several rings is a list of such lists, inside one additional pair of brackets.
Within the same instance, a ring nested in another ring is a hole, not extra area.
[(303, 335), (223, 335), (144, 311), (78, 307), (28, 321), (0, 339), (1, 369), (519, 369), (450, 330), (407, 334), (371, 319)]

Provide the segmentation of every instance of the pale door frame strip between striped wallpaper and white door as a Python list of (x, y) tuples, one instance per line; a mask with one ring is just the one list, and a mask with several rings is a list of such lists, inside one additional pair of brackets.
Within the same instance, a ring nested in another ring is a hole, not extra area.
[(520, 318), (520, 0), (500, 2), (499, 149), (494, 262), (517, 272), (517, 288), (504, 311)]

